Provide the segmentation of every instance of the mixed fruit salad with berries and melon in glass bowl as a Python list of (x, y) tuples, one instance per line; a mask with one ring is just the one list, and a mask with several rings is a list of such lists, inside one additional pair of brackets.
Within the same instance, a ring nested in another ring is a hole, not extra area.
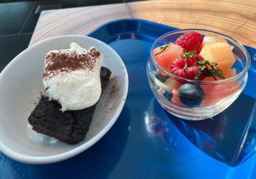
[[(236, 76), (236, 69), (232, 68), (236, 61), (233, 48), (215, 34), (207, 33), (202, 38), (198, 32), (187, 32), (174, 43), (155, 48), (153, 54), (156, 62), (174, 75), (197, 81), (221, 81)], [(236, 80), (216, 85), (183, 82), (159, 68), (154, 80), (172, 94), (174, 104), (189, 108), (214, 106), (237, 92), (240, 85)]]

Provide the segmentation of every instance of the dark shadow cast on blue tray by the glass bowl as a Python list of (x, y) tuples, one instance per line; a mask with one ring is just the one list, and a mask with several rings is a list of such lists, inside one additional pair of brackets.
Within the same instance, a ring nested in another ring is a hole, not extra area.
[(231, 167), (255, 153), (256, 99), (241, 94), (220, 114), (202, 121), (189, 121), (166, 114), (177, 129), (198, 149)]

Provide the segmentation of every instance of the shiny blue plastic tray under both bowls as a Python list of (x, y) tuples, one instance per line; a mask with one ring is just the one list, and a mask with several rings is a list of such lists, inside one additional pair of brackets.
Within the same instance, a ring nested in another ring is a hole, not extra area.
[(99, 142), (59, 163), (23, 164), (0, 152), (0, 178), (255, 179), (256, 49), (246, 46), (252, 63), (238, 99), (211, 119), (186, 121), (163, 110), (146, 74), (151, 45), (176, 29), (124, 19), (89, 33), (109, 44), (126, 65), (129, 90), (120, 117)]

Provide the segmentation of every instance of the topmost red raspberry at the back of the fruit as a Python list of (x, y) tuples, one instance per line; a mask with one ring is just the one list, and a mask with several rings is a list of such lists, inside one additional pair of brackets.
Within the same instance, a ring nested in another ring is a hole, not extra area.
[(196, 50), (196, 53), (200, 53), (202, 50), (202, 36), (198, 32), (187, 32), (175, 41), (175, 44), (181, 46), (183, 50), (186, 48), (186, 51)]

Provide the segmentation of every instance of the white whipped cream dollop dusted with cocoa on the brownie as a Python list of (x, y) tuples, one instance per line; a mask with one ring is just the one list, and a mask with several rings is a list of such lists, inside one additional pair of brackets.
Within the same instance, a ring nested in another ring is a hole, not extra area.
[(61, 104), (61, 111), (81, 110), (94, 105), (101, 95), (100, 69), (103, 56), (94, 47), (53, 50), (45, 56), (45, 96)]

